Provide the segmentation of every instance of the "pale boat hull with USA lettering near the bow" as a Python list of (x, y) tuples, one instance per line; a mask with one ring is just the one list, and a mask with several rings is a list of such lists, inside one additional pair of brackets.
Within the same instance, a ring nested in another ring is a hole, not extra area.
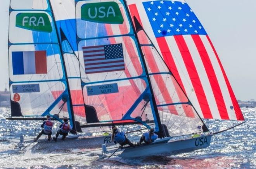
[(119, 157), (147, 157), (152, 155), (170, 156), (191, 152), (198, 149), (206, 148), (210, 145), (212, 135), (189, 138), (184, 140), (174, 140), (168, 143), (152, 143), (138, 147), (131, 147), (123, 150)]

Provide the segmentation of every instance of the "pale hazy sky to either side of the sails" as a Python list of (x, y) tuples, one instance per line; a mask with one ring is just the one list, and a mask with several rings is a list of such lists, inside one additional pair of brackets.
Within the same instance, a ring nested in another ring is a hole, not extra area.
[[(186, 0), (206, 29), (237, 99), (256, 99), (256, 0)], [(0, 90), (8, 86), (9, 0), (0, 0)]]

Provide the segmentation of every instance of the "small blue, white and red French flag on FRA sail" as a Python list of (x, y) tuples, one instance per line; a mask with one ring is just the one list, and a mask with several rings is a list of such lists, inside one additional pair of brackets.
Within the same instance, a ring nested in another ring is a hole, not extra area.
[(47, 73), (46, 51), (12, 52), (12, 70), (14, 75)]

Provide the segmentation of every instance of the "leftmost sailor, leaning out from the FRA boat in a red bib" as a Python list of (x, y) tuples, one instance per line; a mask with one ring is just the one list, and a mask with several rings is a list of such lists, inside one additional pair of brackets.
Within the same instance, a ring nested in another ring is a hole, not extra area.
[(38, 136), (36, 138), (34, 138), (34, 142), (36, 142), (38, 140), (38, 138), (40, 138), (43, 134), (48, 135), (48, 141), (51, 140), (52, 126), (54, 123), (51, 121), (52, 118), (50, 115), (47, 114), (46, 118), (47, 118), (47, 120), (44, 121), (43, 124), (41, 125), (43, 130), (38, 134)]

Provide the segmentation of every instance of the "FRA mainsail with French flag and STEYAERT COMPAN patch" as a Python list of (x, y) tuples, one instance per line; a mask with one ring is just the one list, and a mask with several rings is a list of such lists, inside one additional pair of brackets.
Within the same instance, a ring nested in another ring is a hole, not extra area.
[[(50, 113), (72, 118), (63, 66), (50, 3), (47, 0), (11, 0), (9, 83), (12, 116)], [(66, 110), (60, 108), (62, 104), (67, 106)]]

